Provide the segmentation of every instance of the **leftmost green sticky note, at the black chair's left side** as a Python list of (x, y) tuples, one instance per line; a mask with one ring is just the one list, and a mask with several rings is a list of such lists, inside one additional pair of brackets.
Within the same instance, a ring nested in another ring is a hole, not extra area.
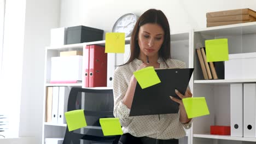
[(68, 131), (86, 127), (84, 110), (74, 110), (65, 112)]

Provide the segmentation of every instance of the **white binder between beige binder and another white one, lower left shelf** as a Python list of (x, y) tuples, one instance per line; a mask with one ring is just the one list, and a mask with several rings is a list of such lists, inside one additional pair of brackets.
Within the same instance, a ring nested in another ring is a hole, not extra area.
[(59, 87), (53, 87), (53, 106), (51, 111), (51, 122), (58, 122)]

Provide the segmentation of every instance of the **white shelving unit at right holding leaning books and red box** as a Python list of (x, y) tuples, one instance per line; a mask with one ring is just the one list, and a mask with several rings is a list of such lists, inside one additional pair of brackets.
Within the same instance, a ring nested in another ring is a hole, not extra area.
[(193, 32), (194, 97), (205, 97), (210, 115), (194, 118), (192, 143), (252, 143), (255, 138), (211, 135), (211, 125), (230, 126), (230, 84), (256, 82), (256, 79), (203, 80), (195, 49), (205, 47), (205, 40), (228, 38), (229, 53), (256, 52), (256, 22), (195, 29)]

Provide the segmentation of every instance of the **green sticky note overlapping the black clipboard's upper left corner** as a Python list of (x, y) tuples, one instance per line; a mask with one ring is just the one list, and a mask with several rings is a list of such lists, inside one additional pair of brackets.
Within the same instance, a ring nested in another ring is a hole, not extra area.
[(146, 67), (133, 72), (133, 74), (142, 89), (161, 82), (154, 67)]

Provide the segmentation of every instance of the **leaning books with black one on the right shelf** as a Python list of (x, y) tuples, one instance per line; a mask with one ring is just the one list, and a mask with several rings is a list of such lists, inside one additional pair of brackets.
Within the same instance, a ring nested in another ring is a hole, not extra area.
[(201, 66), (203, 79), (218, 80), (225, 79), (224, 62), (207, 62), (205, 47), (196, 49), (197, 57)]

